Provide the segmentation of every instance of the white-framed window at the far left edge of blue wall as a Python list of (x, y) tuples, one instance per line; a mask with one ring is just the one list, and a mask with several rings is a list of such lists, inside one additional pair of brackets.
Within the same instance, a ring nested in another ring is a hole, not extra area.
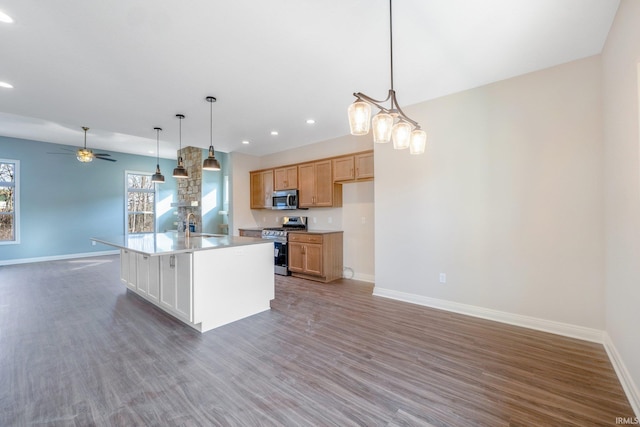
[(20, 161), (0, 159), (0, 244), (20, 243)]

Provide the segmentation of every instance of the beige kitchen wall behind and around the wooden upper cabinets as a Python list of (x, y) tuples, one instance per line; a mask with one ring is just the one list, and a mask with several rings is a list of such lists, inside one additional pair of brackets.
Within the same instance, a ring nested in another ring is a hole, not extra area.
[(249, 209), (248, 193), (250, 170), (366, 151), (371, 150), (372, 147), (373, 142), (370, 137), (356, 138), (349, 135), (260, 158), (232, 155), (234, 166), (233, 234), (237, 235), (238, 228), (241, 227), (277, 226), (282, 223), (284, 215), (307, 216), (310, 230), (344, 231), (345, 277), (373, 282), (375, 278), (373, 182), (344, 184), (342, 186), (342, 207), (340, 208), (297, 211), (251, 210)]

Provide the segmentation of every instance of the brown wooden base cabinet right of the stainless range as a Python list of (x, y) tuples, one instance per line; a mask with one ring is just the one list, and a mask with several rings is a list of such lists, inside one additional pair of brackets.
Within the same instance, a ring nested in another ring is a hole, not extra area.
[(289, 271), (296, 277), (331, 282), (342, 277), (342, 231), (290, 232)]

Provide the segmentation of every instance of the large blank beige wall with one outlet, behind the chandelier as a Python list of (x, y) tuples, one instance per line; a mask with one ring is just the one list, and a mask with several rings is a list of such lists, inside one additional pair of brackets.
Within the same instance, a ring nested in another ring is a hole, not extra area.
[(600, 81), (597, 56), (406, 108), (428, 146), (375, 148), (376, 292), (603, 330)]

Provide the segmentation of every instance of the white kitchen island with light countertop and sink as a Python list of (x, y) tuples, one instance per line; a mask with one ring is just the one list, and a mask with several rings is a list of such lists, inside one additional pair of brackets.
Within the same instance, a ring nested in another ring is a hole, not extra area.
[(215, 234), (94, 237), (120, 249), (120, 278), (162, 310), (206, 332), (269, 310), (273, 242)]

